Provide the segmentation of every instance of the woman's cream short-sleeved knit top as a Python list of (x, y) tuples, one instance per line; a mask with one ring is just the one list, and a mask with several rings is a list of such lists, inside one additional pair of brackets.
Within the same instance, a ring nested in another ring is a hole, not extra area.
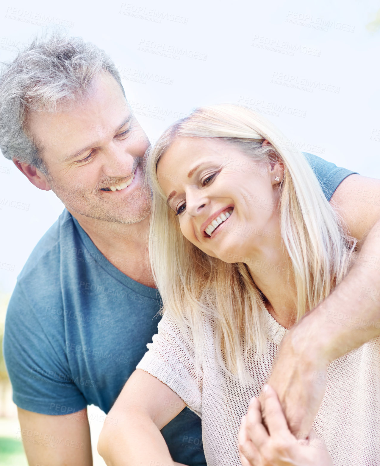
[[(137, 365), (161, 380), (202, 418), (204, 454), (208, 466), (241, 466), (237, 434), (251, 397), (258, 397), (271, 374), (278, 345), (288, 331), (269, 312), (267, 354), (244, 361), (255, 384), (245, 387), (217, 361), (214, 325), (204, 318), (202, 364), (196, 368), (191, 330), (183, 333), (166, 311), (158, 333)], [(336, 466), (380, 465), (380, 337), (333, 361), (325, 380), (326, 394), (313, 429), (326, 442)]]

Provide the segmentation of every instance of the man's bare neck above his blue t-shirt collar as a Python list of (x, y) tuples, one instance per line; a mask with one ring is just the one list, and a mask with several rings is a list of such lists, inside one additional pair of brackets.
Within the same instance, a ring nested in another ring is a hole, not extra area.
[(156, 288), (149, 265), (149, 215), (138, 223), (119, 224), (68, 211), (111, 264), (142, 285)]

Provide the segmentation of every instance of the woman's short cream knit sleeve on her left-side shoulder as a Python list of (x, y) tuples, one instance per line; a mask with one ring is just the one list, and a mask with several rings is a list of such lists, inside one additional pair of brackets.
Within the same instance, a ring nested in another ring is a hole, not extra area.
[(196, 368), (194, 343), (190, 329), (180, 329), (166, 311), (158, 323), (158, 333), (136, 369), (158, 378), (202, 417), (202, 369)]

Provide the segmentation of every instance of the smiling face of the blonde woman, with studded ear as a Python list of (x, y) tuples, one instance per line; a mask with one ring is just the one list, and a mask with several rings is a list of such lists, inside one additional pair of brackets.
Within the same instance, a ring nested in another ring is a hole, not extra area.
[(185, 238), (204, 253), (240, 262), (279, 233), (278, 164), (255, 162), (237, 145), (179, 137), (157, 164), (158, 182)]

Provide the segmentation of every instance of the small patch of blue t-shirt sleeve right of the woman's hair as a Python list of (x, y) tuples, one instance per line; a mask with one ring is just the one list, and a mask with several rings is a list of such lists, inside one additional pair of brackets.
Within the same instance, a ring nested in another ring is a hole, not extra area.
[(309, 154), (308, 152), (302, 153), (305, 155), (306, 160), (312, 167), (312, 170), (314, 171), (315, 176), (317, 177), (322, 191), (328, 201), (331, 199), (332, 194), (345, 178), (347, 178), (349, 175), (353, 175), (354, 173), (359, 175), (357, 171), (351, 171), (343, 167), (337, 167), (332, 162), (327, 162), (327, 160), (318, 157), (317, 155)]

